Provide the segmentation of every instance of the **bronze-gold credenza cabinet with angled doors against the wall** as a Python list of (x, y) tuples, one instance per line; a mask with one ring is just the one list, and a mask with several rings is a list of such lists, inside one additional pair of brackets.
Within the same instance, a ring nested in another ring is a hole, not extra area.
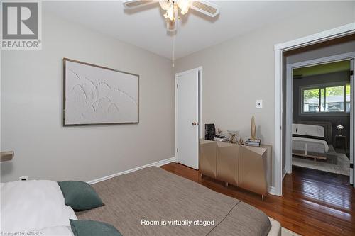
[(251, 147), (200, 140), (200, 174), (266, 196), (271, 184), (270, 145)]

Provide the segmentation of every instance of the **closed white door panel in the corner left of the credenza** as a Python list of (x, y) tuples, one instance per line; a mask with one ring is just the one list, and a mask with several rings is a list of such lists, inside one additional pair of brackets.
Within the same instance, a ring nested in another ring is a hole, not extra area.
[(175, 74), (175, 157), (198, 169), (200, 69)]

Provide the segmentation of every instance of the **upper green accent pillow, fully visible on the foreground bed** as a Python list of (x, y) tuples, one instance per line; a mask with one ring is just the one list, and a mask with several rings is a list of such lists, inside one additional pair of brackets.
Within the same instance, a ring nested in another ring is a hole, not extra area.
[(89, 210), (104, 206), (101, 198), (92, 189), (92, 186), (82, 181), (58, 182), (62, 190), (65, 205), (71, 206), (74, 210)]

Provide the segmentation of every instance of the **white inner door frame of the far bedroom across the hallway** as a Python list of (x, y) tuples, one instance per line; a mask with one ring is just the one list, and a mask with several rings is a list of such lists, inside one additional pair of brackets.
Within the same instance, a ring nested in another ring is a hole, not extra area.
[[(285, 142), (285, 172), (288, 174), (292, 173), (292, 124), (293, 124), (293, 69), (300, 68), (300, 67), (310, 67), (316, 64), (326, 64), (331, 62), (339, 62), (343, 60), (352, 60), (355, 58), (355, 51), (349, 53), (343, 53), (339, 55), (333, 55), (330, 57), (321, 57), (315, 60), (307, 60), (303, 62), (296, 62), (293, 64), (287, 64), (287, 76), (286, 76), (286, 103), (291, 104), (291, 106), (287, 106), (286, 109), (286, 142)], [(353, 123), (354, 123), (354, 115), (355, 111), (353, 109), (352, 104), (354, 103), (354, 79), (350, 80), (351, 83), (351, 91), (350, 91), (350, 102), (351, 102), (351, 111), (350, 111), (350, 155), (352, 158), (350, 160), (354, 160), (354, 149), (352, 147), (352, 142), (354, 140), (354, 130), (353, 130)], [(352, 163), (352, 162), (351, 162)], [(354, 169), (353, 173), (350, 173), (349, 179), (350, 184), (354, 183)]]

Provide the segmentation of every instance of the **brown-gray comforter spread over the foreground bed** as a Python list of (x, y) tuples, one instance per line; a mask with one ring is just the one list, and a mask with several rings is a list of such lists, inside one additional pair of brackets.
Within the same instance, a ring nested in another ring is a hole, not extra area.
[(105, 206), (79, 219), (114, 225), (122, 235), (268, 235), (261, 210), (159, 167), (93, 185)]

